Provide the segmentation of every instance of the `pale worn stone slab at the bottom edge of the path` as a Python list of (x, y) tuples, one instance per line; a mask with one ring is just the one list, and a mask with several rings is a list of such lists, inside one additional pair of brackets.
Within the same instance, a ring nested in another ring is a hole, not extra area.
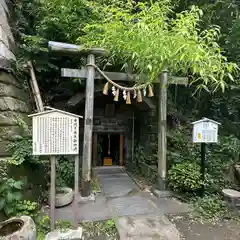
[(164, 216), (121, 217), (116, 220), (121, 240), (180, 240), (176, 227)]

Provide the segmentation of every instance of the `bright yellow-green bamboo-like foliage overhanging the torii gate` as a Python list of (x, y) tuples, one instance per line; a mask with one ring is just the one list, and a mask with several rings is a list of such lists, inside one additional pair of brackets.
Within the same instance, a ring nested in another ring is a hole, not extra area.
[(226, 77), (232, 81), (236, 65), (227, 62), (217, 43), (219, 28), (199, 30), (202, 11), (196, 6), (171, 17), (170, 0), (151, 4), (139, 3), (140, 9), (103, 7), (105, 18), (85, 27), (79, 38), (87, 46), (106, 48), (113, 57), (133, 62), (135, 71), (145, 73), (154, 81), (166, 68), (174, 73), (188, 74), (198, 88), (225, 89)]

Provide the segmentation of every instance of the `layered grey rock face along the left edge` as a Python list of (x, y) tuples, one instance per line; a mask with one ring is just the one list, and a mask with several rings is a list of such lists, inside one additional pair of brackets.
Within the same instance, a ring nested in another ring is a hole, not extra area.
[(11, 73), (16, 58), (7, 4), (7, 0), (0, 0), (0, 158), (9, 155), (6, 148), (19, 133), (16, 119), (28, 120), (27, 115), (31, 112), (29, 94)]

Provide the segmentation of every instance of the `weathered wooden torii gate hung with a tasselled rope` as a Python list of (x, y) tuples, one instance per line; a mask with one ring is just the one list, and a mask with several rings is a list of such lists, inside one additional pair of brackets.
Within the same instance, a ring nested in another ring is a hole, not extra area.
[[(48, 43), (52, 52), (65, 56), (87, 56), (87, 67), (82, 69), (61, 69), (62, 77), (87, 79), (85, 119), (84, 119), (84, 140), (82, 157), (82, 196), (90, 195), (91, 180), (91, 159), (92, 159), (92, 129), (93, 129), (93, 104), (94, 104), (94, 80), (102, 79), (99, 73), (95, 73), (95, 56), (106, 56), (106, 51), (101, 48), (84, 49), (82, 46), (68, 43), (52, 42)], [(114, 81), (133, 81), (134, 74), (129, 77), (127, 73), (104, 72)], [(167, 163), (167, 84), (187, 85), (188, 79), (184, 77), (173, 77), (168, 79), (167, 71), (160, 74), (156, 79), (159, 84), (159, 121), (158, 121), (158, 187), (160, 190), (166, 189), (166, 163)]]

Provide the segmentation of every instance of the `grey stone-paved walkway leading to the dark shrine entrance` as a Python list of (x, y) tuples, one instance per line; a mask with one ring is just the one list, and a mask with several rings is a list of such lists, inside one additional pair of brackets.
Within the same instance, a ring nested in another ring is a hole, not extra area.
[[(102, 193), (95, 201), (79, 203), (80, 221), (114, 219), (124, 240), (180, 239), (179, 232), (164, 214), (186, 212), (187, 206), (141, 191), (120, 167), (99, 167), (96, 173)], [(72, 206), (56, 209), (56, 219), (72, 220)]]

